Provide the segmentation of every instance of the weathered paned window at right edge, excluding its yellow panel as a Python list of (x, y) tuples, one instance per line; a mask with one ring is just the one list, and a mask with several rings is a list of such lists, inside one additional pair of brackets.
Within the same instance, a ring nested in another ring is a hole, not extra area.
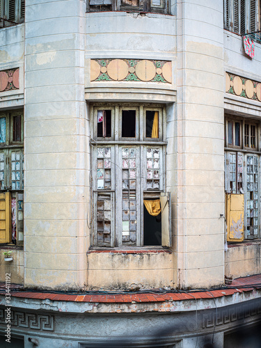
[(244, 194), (245, 239), (260, 237), (259, 123), (226, 118), (226, 192)]

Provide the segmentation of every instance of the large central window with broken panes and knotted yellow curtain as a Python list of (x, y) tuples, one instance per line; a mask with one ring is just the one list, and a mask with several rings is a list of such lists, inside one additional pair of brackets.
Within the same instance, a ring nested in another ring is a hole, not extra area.
[(169, 246), (165, 110), (93, 106), (92, 115), (93, 245)]

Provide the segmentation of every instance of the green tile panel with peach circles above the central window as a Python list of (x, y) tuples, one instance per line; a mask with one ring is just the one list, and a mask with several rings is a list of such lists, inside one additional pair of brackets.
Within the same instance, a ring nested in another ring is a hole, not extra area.
[(91, 59), (90, 81), (145, 81), (171, 84), (171, 61)]

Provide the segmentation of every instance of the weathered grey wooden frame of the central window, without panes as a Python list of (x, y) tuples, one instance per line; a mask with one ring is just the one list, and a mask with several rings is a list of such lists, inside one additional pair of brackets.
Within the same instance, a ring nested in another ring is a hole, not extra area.
[[(104, 139), (97, 137), (97, 111), (98, 110), (111, 110), (111, 138)], [(136, 137), (135, 138), (122, 138), (121, 134), (121, 114), (123, 110), (135, 110), (136, 111)], [(145, 137), (145, 115), (146, 111), (158, 111), (159, 112), (159, 139), (148, 139)], [(166, 196), (166, 110), (160, 106), (150, 106), (147, 104), (94, 104), (90, 105), (90, 120), (93, 123), (91, 127), (91, 163), (92, 163), (92, 181), (91, 187), (93, 191), (93, 226), (92, 226), (92, 246), (97, 247), (130, 247), (137, 246), (143, 247), (143, 198), (159, 198), (161, 195)], [(110, 147), (111, 148), (111, 187), (109, 189), (98, 189), (97, 187), (97, 148)], [(122, 148), (135, 148), (136, 149), (136, 242), (129, 243), (122, 242), (122, 226), (120, 221), (122, 220), (122, 200), (116, 199), (122, 194)], [(147, 148), (159, 148), (159, 189), (147, 190), (146, 178), (147, 178), (147, 160), (146, 149)], [(104, 242), (97, 242), (96, 235), (96, 200), (97, 194), (111, 194), (113, 199), (113, 237), (111, 237), (110, 245)], [(168, 218), (171, 214), (170, 195), (168, 194)], [(163, 199), (163, 198), (162, 198)], [(166, 212), (164, 212), (166, 216)], [(166, 219), (166, 217), (164, 217)], [(166, 226), (168, 226), (166, 228)], [(164, 226), (164, 235), (161, 235), (161, 246), (171, 245), (171, 232), (166, 234), (166, 229), (171, 230), (171, 223), (166, 223)], [(146, 246), (148, 248), (148, 246)]]

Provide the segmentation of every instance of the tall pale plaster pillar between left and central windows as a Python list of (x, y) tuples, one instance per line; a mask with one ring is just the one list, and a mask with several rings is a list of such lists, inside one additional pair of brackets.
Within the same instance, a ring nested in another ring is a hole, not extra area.
[(85, 2), (26, 1), (26, 286), (83, 287), (89, 209)]

